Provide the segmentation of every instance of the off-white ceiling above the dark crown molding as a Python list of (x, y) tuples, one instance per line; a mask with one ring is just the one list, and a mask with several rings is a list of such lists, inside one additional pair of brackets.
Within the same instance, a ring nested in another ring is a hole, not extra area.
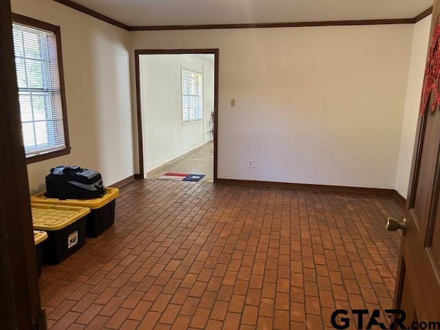
[(432, 0), (74, 0), (126, 25), (408, 19)]

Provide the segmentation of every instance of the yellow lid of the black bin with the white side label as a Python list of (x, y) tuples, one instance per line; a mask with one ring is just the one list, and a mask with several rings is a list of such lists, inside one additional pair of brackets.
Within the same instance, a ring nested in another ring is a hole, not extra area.
[(89, 208), (34, 203), (31, 209), (34, 229), (47, 231), (63, 229), (90, 213)]

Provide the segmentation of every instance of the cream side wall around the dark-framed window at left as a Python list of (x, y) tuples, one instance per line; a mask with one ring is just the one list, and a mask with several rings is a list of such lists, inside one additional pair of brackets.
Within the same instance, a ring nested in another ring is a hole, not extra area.
[(29, 164), (30, 190), (58, 164), (99, 170), (104, 184), (133, 175), (129, 32), (52, 0), (12, 0), (12, 11), (61, 26), (72, 152)]

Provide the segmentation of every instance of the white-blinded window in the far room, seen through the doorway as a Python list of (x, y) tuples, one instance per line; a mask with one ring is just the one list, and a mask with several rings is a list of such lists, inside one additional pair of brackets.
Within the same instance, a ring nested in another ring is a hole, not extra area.
[(182, 122), (203, 119), (203, 74), (181, 69)]

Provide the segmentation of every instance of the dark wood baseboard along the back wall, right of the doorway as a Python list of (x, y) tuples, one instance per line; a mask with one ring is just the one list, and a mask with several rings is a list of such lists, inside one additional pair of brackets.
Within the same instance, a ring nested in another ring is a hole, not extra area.
[(389, 195), (395, 196), (394, 189), (382, 188), (362, 188), (350, 186), (329, 186), (325, 184), (294, 184), (290, 182), (275, 182), (275, 181), (255, 181), (255, 180), (241, 180), (241, 179), (217, 179), (217, 184), (233, 184), (239, 186), (260, 186), (260, 187), (276, 187), (276, 188), (294, 188), (294, 189), (313, 189), (313, 190), (328, 190), (335, 192), (355, 192), (371, 195)]

